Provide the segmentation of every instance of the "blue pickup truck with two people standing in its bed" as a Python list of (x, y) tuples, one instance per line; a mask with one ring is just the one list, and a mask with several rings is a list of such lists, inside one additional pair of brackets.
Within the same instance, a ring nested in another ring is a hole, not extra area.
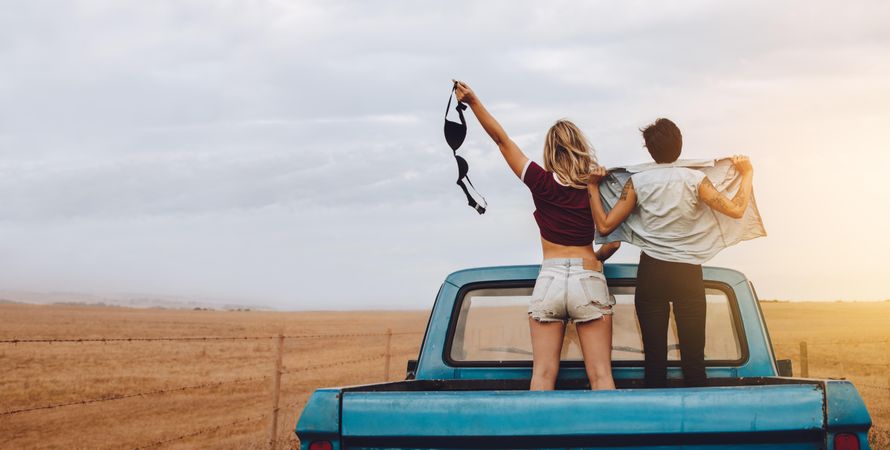
[(615, 297), (617, 390), (587, 386), (569, 326), (557, 389), (528, 391), (526, 307), (539, 266), (448, 276), (404, 381), (318, 389), (297, 423), (306, 450), (432, 448), (868, 449), (871, 417), (845, 380), (791, 377), (776, 361), (752, 284), (705, 267), (710, 386), (681, 388), (671, 323), (673, 386), (642, 386), (633, 308), (636, 265), (606, 265)]

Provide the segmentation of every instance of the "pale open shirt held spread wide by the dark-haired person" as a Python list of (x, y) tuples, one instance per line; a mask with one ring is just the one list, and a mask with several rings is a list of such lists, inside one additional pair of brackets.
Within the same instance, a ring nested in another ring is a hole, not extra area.
[(611, 169), (600, 183), (606, 211), (618, 202), (628, 179), (633, 179), (637, 205), (611, 234), (597, 233), (596, 242), (624, 241), (662, 261), (704, 264), (726, 247), (766, 236), (753, 192), (744, 216), (734, 219), (699, 201), (698, 187), (705, 177), (729, 198), (742, 182), (729, 158)]

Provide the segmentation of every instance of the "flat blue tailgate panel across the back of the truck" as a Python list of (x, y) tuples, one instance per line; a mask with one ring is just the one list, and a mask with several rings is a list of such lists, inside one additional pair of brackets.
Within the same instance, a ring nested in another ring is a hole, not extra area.
[(821, 448), (812, 384), (616, 391), (344, 392), (350, 448)]

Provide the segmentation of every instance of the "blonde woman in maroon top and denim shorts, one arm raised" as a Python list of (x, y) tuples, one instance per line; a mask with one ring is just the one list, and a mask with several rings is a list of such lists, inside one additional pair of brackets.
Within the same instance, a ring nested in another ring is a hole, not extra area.
[(618, 245), (593, 250), (594, 222), (587, 198), (587, 176), (596, 159), (590, 144), (575, 124), (559, 120), (547, 131), (542, 168), (507, 136), (466, 83), (455, 83), (457, 99), (470, 106), (535, 202), (544, 261), (528, 309), (533, 354), (531, 389), (554, 389), (569, 320), (578, 330), (590, 388), (614, 389), (612, 301), (602, 261)]

